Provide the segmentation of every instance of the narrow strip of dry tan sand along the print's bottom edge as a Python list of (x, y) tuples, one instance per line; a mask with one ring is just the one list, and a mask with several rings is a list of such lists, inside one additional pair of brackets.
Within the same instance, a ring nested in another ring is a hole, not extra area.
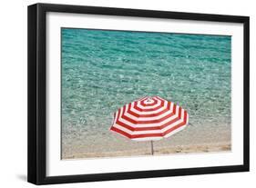
[[(154, 156), (167, 154), (186, 154), (186, 153), (219, 153), (230, 152), (230, 142), (225, 143), (204, 143), (204, 144), (187, 144), (177, 146), (157, 147), (154, 150)], [(61, 160), (83, 160), (83, 159), (97, 159), (109, 157), (135, 157), (135, 156), (150, 156), (152, 155), (150, 148), (105, 152), (105, 153), (73, 153), (72, 155), (62, 156)]]

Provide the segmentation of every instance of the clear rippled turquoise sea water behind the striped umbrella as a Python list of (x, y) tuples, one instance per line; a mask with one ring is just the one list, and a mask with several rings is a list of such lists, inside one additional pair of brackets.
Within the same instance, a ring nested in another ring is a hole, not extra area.
[(179, 103), (195, 126), (230, 126), (230, 36), (72, 28), (61, 35), (64, 143), (108, 136), (118, 107), (145, 95)]

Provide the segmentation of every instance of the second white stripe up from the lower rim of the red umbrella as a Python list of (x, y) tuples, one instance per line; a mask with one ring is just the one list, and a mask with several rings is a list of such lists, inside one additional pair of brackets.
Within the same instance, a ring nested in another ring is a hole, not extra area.
[[(123, 112), (123, 108), (121, 108), (121, 112), (120, 114), (122, 114)], [(160, 126), (160, 125), (163, 125), (163, 124), (166, 124), (168, 123), (169, 121), (177, 118), (179, 116), (179, 106), (177, 105), (176, 106), (176, 114), (172, 115), (171, 117), (167, 118), (166, 120), (160, 122), (160, 123), (155, 123), (155, 124), (132, 124), (130, 123), (129, 121), (123, 119), (121, 116), (119, 116), (119, 121), (124, 123), (124, 124), (128, 124), (129, 126), (132, 126), (132, 127), (153, 127), (153, 126)]]

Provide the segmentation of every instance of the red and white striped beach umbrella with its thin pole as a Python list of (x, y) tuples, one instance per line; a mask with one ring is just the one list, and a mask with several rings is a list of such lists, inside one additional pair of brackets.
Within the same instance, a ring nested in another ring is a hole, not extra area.
[(189, 114), (159, 96), (143, 97), (119, 108), (110, 130), (134, 141), (153, 141), (176, 134), (189, 124)]

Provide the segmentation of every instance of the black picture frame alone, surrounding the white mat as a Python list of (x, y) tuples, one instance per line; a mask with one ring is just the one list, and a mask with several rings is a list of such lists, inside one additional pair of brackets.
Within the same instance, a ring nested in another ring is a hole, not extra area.
[[(177, 20), (196, 20), (243, 24), (243, 164), (216, 167), (153, 170), (124, 173), (96, 173), (66, 176), (46, 176), (46, 13), (76, 13), (91, 15), (122, 15)], [(80, 183), (133, 178), (232, 173), (249, 171), (249, 35), (250, 18), (237, 15), (207, 15), (153, 10), (95, 7), (82, 5), (36, 4), (28, 6), (28, 137), (27, 181), (35, 184)]]

